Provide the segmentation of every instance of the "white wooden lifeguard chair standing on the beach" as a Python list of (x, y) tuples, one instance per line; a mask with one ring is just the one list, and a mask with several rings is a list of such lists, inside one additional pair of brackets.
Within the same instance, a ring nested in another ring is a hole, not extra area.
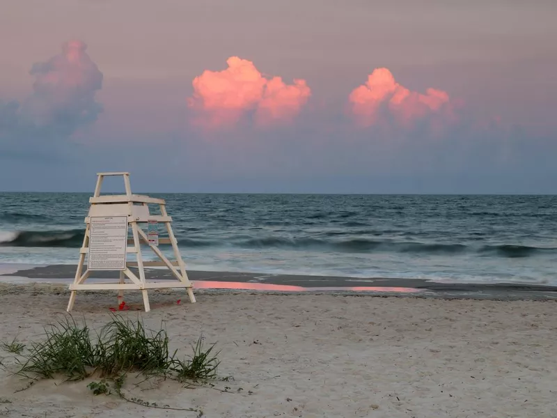
[[(101, 196), (102, 180), (106, 176), (123, 176), (126, 193)], [(121, 304), (123, 291), (140, 290), (146, 312), (150, 311), (147, 290), (151, 288), (186, 288), (189, 300), (196, 302), (193, 286), (187, 277), (185, 263), (172, 231), (172, 218), (166, 213), (164, 199), (132, 194), (130, 173), (97, 173), (95, 193), (89, 198), (89, 203), (91, 207), (85, 218), (86, 229), (83, 245), (79, 250), (79, 263), (74, 281), (70, 284), (68, 312), (72, 310), (77, 291), (118, 290), (118, 304)], [(159, 206), (160, 215), (150, 215), (149, 203)], [(157, 226), (159, 223), (166, 227), (168, 238), (159, 238), (158, 231), (150, 231), (150, 226)], [(148, 233), (141, 229), (141, 224), (148, 224)], [(130, 227), (132, 237), (128, 238)], [(150, 247), (160, 261), (143, 261), (141, 244)], [(159, 244), (172, 245), (175, 261), (166, 258), (159, 249)], [(127, 254), (134, 254), (136, 261), (127, 261)], [(86, 256), (87, 267), (83, 272)], [(139, 270), (139, 277), (130, 267)], [(166, 267), (176, 280), (148, 282), (145, 267)], [(85, 281), (95, 270), (119, 271), (120, 277), (118, 281), (86, 284)]]

